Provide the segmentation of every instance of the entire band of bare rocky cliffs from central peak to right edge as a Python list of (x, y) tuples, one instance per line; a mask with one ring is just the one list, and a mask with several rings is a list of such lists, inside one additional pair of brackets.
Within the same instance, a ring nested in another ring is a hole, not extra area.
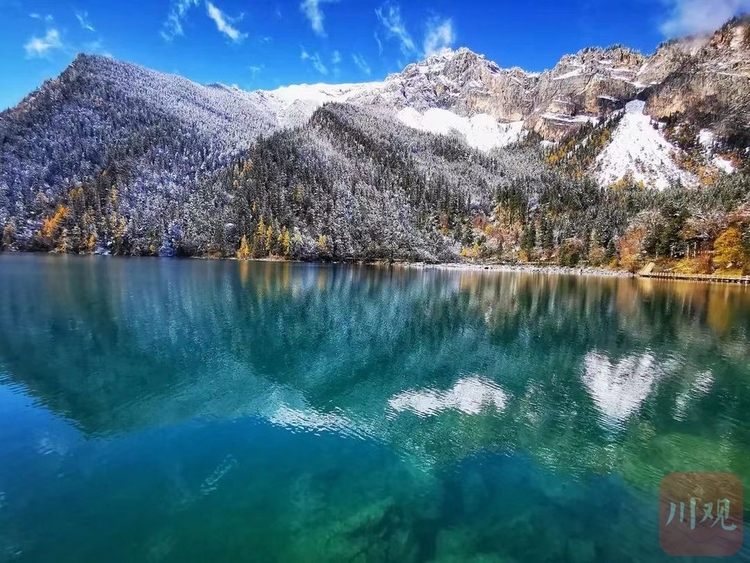
[(350, 101), (523, 120), (527, 130), (560, 141), (636, 99), (648, 102), (646, 114), (656, 120), (679, 115), (716, 128), (719, 137), (736, 136), (732, 122), (747, 122), (750, 107), (750, 18), (664, 43), (650, 56), (623, 46), (587, 48), (542, 73), (446, 50)]

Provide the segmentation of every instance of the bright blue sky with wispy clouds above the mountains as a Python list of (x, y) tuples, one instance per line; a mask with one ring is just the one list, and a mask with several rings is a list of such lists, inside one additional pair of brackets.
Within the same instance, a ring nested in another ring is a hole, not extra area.
[(613, 43), (652, 52), (750, 0), (0, 0), (0, 109), (85, 51), (245, 89), (379, 80), (446, 46), (541, 71)]

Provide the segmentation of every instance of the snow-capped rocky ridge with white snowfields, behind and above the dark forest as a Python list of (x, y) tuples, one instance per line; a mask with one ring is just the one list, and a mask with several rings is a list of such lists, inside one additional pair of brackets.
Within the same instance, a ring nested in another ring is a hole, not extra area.
[[(748, 37), (748, 20), (739, 19), (712, 35), (665, 43), (650, 56), (623, 46), (587, 48), (541, 73), (502, 69), (466, 48), (446, 49), (382, 82), (290, 86), (260, 96), (273, 100), (278, 123), (300, 123), (326, 102), (376, 105), (410, 127), (458, 134), (484, 151), (530, 131), (560, 142), (624, 114), (614, 147), (597, 158), (593, 176), (609, 183), (630, 174), (661, 188), (674, 181), (695, 185), (695, 174), (680, 168), (682, 149), (667, 138), (664, 122), (700, 123), (693, 137), (714, 140), (707, 166), (731, 170), (713, 151), (750, 146)], [(626, 112), (636, 100), (646, 102), (643, 111)]]

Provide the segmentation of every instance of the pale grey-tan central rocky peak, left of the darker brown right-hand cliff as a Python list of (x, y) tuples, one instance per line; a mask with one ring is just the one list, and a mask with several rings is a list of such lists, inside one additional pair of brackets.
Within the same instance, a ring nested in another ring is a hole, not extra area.
[(552, 70), (531, 73), (501, 69), (465, 48), (446, 50), (350, 101), (420, 112), (439, 108), (463, 117), (486, 114), (501, 122), (528, 120), (528, 129), (560, 140), (634, 99), (642, 87), (635, 79), (643, 61), (624, 47), (585, 49), (563, 57)]

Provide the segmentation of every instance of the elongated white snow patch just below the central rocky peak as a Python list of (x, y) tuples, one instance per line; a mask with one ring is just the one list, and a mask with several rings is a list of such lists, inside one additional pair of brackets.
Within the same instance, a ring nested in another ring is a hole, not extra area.
[(424, 113), (419, 113), (414, 108), (404, 108), (397, 117), (404, 125), (420, 131), (440, 135), (457, 133), (466, 139), (469, 146), (482, 151), (506, 147), (520, 140), (523, 135), (523, 121), (503, 124), (483, 113), (461, 117), (438, 108), (428, 109)]

